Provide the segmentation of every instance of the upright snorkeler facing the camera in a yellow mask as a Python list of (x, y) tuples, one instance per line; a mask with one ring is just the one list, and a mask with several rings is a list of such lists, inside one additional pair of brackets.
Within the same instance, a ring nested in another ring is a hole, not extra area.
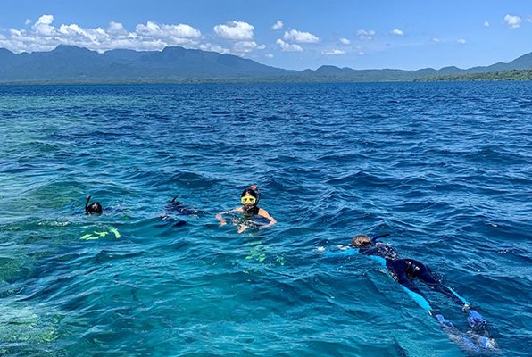
[[(224, 214), (237, 212), (240, 213), (243, 217), (243, 220), (241, 220), (237, 226), (238, 226), (238, 233), (242, 233), (245, 231), (245, 229), (254, 227), (258, 229), (262, 228), (269, 228), (273, 226), (275, 223), (277, 223), (277, 220), (275, 220), (273, 217), (270, 216), (270, 213), (266, 212), (266, 210), (259, 208), (258, 204), (261, 199), (261, 192), (259, 189), (255, 186), (252, 186), (250, 188), (246, 188), (244, 191), (242, 191), (242, 195), (240, 195), (240, 203), (242, 203), (242, 206), (234, 208), (230, 211), (226, 212), (220, 212), (216, 215), (216, 219), (220, 221), (220, 226), (224, 226), (227, 224), (227, 220), (223, 218)], [(252, 220), (254, 217), (263, 217), (266, 220), (270, 220), (270, 222), (266, 225), (259, 226), (256, 223), (254, 223)]]

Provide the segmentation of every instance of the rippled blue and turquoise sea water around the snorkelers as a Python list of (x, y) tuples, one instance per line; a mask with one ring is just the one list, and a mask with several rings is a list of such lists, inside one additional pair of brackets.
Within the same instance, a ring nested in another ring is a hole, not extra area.
[[(219, 227), (252, 184), (278, 224)], [(529, 356), (531, 194), (531, 82), (0, 87), (0, 354), (468, 355), (320, 252), (390, 233)]]

